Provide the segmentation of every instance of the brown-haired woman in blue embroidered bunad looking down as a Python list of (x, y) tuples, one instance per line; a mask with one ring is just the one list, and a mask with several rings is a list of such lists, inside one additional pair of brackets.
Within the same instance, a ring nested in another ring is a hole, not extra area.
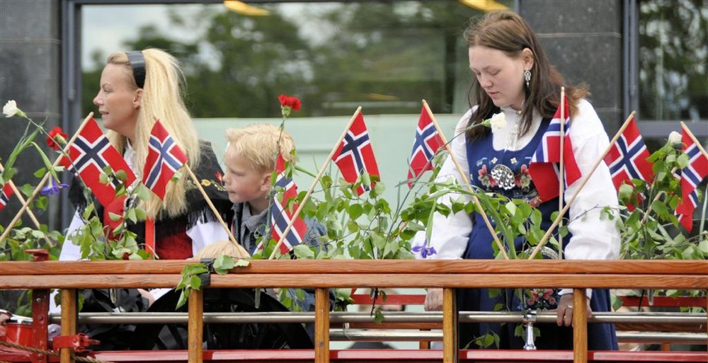
[[(472, 79), (473, 107), (457, 125), (457, 133), (503, 113), (507, 125), (501, 129), (472, 127), (464, 137), (452, 142), (452, 153), (462, 164), (462, 173), (470, 183), (486, 192), (495, 192), (509, 198), (521, 198), (537, 206), (543, 215), (543, 228), (552, 224), (552, 212), (558, 210), (557, 197), (540, 200), (535, 183), (529, 174), (530, 161), (539, 146), (550, 120), (559, 107), (561, 87), (566, 88), (571, 117), (569, 135), (573, 152), (581, 173), (589, 173), (600, 159), (609, 142), (597, 113), (586, 97), (583, 87), (567, 86), (546, 57), (530, 26), (510, 11), (494, 11), (469, 25), (464, 32), (469, 45), (469, 67)], [(459, 183), (462, 177), (448, 157), (439, 180), (454, 176)], [(565, 190), (569, 199), (580, 183), (573, 183)], [(443, 197), (450, 203), (451, 196)], [(563, 238), (564, 255), (568, 260), (611, 260), (619, 257), (619, 231), (615, 222), (603, 216), (604, 207), (617, 207), (617, 195), (610, 172), (604, 163), (593, 173), (569, 209), (569, 236)], [(493, 259), (493, 237), (489, 229), (474, 212), (459, 212), (450, 217), (436, 214), (433, 221), (430, 246), (437, 253), (428, 258), (439, 259)], [(422, 244), (423, 238), (415, 243)], [(526, 250), (523, 238), (515, 241), (517, 251)], [(416, 250), (426, 250), (420, 248)], [(537, 324), (540, 337), (539, 349), (571, 349), (573, 347), (572, 290), (561, 289), (557, 304), (557, 324)], [(501, 305), (498, 305), (501, 304)], [(610, 311), (607, 289), (588, 289), (589, 311)], [(458, 292), (459, 311), (519, 311), (523, 304), (510, 291), (490, 296), (489, 289), (464, 289)], [(426, 309), (442, 308), (442, 289), (428, 289)], [(472, 342), (487, 333), (496, 333), (499, 347), (519, 349), (523, 337), (515, 336), (515, 324), (471, 323), (461, 324), (461, 347), (474, 348)], [(617, 337), (614, 325), (588, 325), (590, 350), (616, 350)]]

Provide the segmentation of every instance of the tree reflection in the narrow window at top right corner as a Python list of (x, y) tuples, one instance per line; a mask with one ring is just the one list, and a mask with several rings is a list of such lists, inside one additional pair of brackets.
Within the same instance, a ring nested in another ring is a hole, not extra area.
[(708, 118), (708, 1), (639, 3), (639, 108), (646, 120)]

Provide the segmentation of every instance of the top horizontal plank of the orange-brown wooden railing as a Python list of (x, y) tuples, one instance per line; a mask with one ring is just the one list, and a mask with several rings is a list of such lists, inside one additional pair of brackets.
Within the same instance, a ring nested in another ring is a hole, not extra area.
[[(12, 261), (0, 264), (7, 275), (164, 275), (179, 274), (189, 260), (137, 261)], [(91, 265), (86, 265), (91, 264)], [(624, 274), (708, 275), (702, 260), (252, 260), (232, 273), (249, 274)], [(91, 267), (87, 267), (91, 266)]]

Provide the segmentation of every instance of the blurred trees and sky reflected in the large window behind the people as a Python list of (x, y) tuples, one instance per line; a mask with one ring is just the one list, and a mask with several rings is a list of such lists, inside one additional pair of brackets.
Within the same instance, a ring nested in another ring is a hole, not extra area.
[[(481, 13), (475, 8), (457, 1), (258, 7), (270, 15), (222, 4), (84, 6), (84, 111), (93, 110), (105, 57), (144, 47), (181, 59), (195, 117), (278, 117), (280, 93), (308, 106), (299, 116), (346, 115), (357, 105), (367, 114), (418, 113), (421, 98), (435, 113), (469, 107), (462, 29)], [(106, 23), (105, 13), (120, 22)]]

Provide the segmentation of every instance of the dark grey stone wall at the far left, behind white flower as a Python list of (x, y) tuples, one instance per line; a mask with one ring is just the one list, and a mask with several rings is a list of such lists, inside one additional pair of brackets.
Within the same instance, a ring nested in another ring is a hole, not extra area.
[[(0, 0), (0, 102), (16, 100), (21, 110), (35, 122), (45, 122), (47, 129), (59, 125), (61, 118), (61, 4), (59, 0)], [(27, 121), (4, 118), (0, 123), (0, 158), (3, 163), (25, 131)], [(45, 137), (38, 145), (48, 153)], [(34, 149), (26, 150), (16, 162), (19, 186), (36, 185), (33, 173), (42, 168)], [(47, 212), (35, 211), (42, 223), (55, 227), (59, 210), (56, 200)], [(0, 224), (6, 226), (21, 203), (11, 203), (0, 211)], [(52, 216), (52, 217), (50, 217)], [(27, 217), (24, 225), (30, 225)]]

